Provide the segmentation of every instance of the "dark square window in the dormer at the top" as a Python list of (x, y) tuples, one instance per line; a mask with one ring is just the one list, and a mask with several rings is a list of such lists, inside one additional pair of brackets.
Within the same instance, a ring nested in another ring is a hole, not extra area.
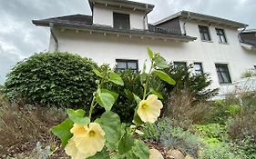
[(124, 14), (113, 14), (114, 28), (117, 29), (129, 29), (129, 15)]

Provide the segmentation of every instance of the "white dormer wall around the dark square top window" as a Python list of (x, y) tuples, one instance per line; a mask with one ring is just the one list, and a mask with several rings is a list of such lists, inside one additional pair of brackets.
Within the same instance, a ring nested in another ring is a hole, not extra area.
[[(144, 29), (144, 13), (136, 11), (124, 11), (118, 9), (112, 9), (105, 6), (94, 6), (93, 10), (93, 24), (95, 25), (108, 25), (113, 27), (113, 13), (127, 14), (129, 15), (130, 28), (131, 29)], [(148, 29), (148, 25), (145, 25)]]

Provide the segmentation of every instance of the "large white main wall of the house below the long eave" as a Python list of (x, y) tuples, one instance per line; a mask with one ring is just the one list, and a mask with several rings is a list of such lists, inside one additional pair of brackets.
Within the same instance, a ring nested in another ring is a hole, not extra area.
[[(198, 40), (189, 43), (174, 41), (140, 39), (139, 37), (122, 35), (103, 35), (86, 31), (76, 33), (74, 30), (60, 32), (56, 30), (59, 41), (59, 51), (68, 51), (87, 56), (99, 65), (116, 65), (116, 59), (137, 59), (139, 68), (142, 68), (145, 59), (148, 59), (147, 46), (163, 55), (170, 61), (184, 61), (187, 64), (201, 62), (204, 72), (210, 73), (213, 80), (212, 88), (220, 87), (222, 94), (232, 88), (231, 84), (219, 84), (215, 63), (229, 65), (231, 80), (237, 81), (241, 74), (256, 65), (256, 52), (247, 52), (239, 44), (237, 32), (225, 29), (228, 45), (218, 42), (214, 26), (210, 26), (212, 43), (201, 42), (198, 25), (187, 23), (188, 35), (198, 37)], [(51, 41), (53, 43), (53, 41)], [(53, 44), (51, 44), (53, 45)]]

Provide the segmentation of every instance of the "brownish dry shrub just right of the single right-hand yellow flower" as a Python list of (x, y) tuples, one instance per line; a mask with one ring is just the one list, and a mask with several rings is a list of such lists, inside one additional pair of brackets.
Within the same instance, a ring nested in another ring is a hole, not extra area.
[(169, 103), (164, 108), (164, 115), (169, 116), (173, 124), (189, 129), (190, 124), (203, 123), (208, 117), (210, 103), (195, 102), (189, 89), (174, 90), (169, 94)]

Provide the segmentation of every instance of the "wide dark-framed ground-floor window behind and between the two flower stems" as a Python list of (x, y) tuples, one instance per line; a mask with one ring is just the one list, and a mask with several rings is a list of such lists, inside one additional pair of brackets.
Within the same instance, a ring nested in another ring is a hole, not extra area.
[(138, 60), (117, 59), (116, 62), (118, 71), (123, 71), (127, 69), (138, 71)]

